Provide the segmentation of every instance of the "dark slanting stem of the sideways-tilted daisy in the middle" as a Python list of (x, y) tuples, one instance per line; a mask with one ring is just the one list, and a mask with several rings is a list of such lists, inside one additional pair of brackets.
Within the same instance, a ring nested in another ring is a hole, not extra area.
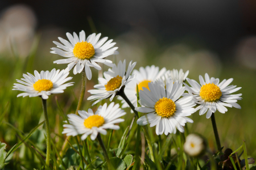
[[(130, 108), (133, 110), (133, 112), (135, 113), (135, 115), (139, 118), (139, 114), (137, 111), (135, 111), (135, 107), (134, 105), (131, 103), (131, 101), (127, 98), (127, 96), (125, 95), (125, 92), (121, 91), (119, 93), (119, 96), (121, 96), (125, 101), (126, 103), (130, 106)], [(142, 129), (144, 131), (144, 134), (146, 136), (146, 139), (147, 139), (147, 145), (148, 145), (148, 149), (150, 151), (150, 157), (151, 157), (151, 160), (152, 162), (155, 162), (155, 159), (154, 159), (154, 154), (153, 154), (153, 147), (152, 147), (152, 143), (150, 142), (150, 136), (148, 134), (148, 131), (147, 131), (147, 128), (146, 126), (142, 126)]]

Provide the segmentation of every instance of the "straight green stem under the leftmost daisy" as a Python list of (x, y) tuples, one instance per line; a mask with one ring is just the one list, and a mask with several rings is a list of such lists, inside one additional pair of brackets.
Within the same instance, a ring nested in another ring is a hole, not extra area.
[(46, 123), (46, 168), (49, 168), (49, 159), (51, 157), (51, 133), (49, 130), (49, 119), (47, 114), (47, 103), (46, 99), (42, 98), (43, 111), (44, 111), (44, 120)]

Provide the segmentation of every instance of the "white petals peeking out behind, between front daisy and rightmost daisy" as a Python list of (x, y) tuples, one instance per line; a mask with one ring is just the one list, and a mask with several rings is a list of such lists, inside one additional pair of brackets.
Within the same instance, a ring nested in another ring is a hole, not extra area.
[(171, 78), (172, 80), (174, 80), (174, 82), (178, 80), (179, 83), (183, 83), (184, 80), (187, 78), (188, 73), (189, 71), (186, 71), (186, 73), (183, 73), (182, 69), (180, 69), (180, 71), (178, 71), (177, 69), (167, 70), (164, 76), (162, 76), (162, 79), (165, 81), (168, 78)]

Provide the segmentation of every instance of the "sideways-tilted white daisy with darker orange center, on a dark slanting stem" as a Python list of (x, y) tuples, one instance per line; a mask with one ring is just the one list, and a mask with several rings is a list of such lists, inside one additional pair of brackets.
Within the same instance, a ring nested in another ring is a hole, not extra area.
[(98, 90), (88, 90), (92, 96), (88, 97), (87, 100), (96, 100), (92, 105), (108, 97), (110, 97), (110, 101), (112, 101), (121, 88), (126, 86), (126, 84), (135, 77), (135, 74), (130, 75), (135, 65), (136, 62), (132, 63), (131, 61), (126, 71), (126, 61), (124, 60), (123, 63), (119, 61), (117, 66), (114, 65), (112, 69), (105, 71), (105, 78), (98, 78), (100, 84), (94, 86), (94, 88), (98, 88)]

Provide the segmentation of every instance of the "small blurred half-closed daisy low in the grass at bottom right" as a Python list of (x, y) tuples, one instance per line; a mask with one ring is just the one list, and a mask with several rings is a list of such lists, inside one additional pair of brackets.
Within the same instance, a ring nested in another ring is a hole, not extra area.
[(206, 143), (200, 135), (189, 134), (184, 143), (184, 151), (190, 156), (200, 156), (206, 150)]

